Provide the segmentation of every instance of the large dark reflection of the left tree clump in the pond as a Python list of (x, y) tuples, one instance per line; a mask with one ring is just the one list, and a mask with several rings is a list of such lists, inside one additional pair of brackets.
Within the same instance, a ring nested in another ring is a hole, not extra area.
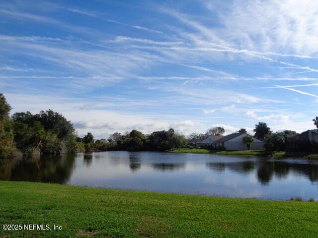
[(71, 177), (74, 162), (75, 155), (2, 160), (0, 162), (0, 179), (66, 183)]

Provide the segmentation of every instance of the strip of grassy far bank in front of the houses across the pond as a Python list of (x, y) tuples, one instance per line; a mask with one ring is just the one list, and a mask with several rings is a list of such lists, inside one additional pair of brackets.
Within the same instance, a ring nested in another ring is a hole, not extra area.
[[(241, 151), (215, 151), (209, 149), (191, 149), (191, 148), (179, 148), (170, 150), (171, 153), (193, 153), (193, 154), (216, 154), (216, 155), (257, 155), (257, 156), (270, 156), (270, 152), (266, 150), (241, 150)], [(318, 154), (310, 152), (286, 152), (286, 151), (274, 151), (274, 156), (280, 157), (306, 157), (312, 159), (318, 159)]]

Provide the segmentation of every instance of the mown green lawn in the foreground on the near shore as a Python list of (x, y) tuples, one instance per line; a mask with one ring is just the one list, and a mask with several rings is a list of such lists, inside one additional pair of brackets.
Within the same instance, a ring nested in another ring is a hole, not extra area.
[[(62, 231), (4, 231), (53, 224)], [(0, 181), (0, 237), (317, 237), (318, 203)]]

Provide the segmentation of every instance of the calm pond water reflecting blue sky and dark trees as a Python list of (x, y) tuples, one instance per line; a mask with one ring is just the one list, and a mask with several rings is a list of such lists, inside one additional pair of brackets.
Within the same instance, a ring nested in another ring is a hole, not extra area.
[(318, 161), (159, 152), (93, 152), (0, 161), (0, 180), (286, 200), (318, 199)]

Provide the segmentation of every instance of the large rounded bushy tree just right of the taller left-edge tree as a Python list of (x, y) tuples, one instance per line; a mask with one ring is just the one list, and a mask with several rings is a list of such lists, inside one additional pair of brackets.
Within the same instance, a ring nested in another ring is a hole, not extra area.
[(73, 124), (52, 110), (32, 115), (30, 112), (12, 116), (14, 142), (25, 154), (34, 149), (41, 153), (64, 153), (76, 148), (76, 133)]

